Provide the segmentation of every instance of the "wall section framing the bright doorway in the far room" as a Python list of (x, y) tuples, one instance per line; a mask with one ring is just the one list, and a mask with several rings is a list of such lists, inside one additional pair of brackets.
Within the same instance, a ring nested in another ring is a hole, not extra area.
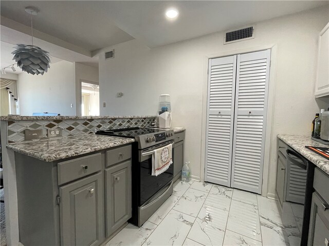
[(75, 63), (76, 69), (76, 115), (81, 115), (81, 80), (98, 84), (98, 68)]

